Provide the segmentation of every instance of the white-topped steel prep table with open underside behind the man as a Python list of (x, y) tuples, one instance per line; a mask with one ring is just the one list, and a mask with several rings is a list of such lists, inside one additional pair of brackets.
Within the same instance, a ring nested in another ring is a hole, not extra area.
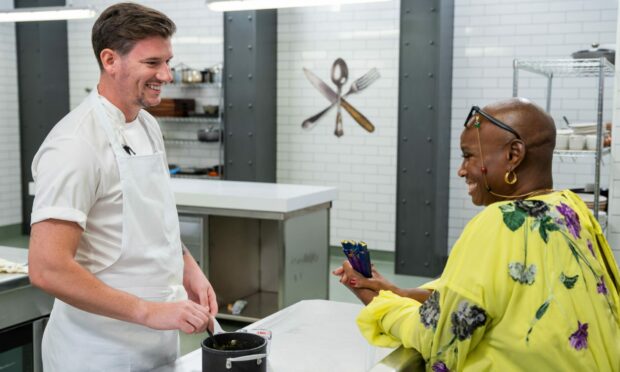
[(333, 187), (172, 179), (181, 235), (221, 305), (247, 300), (256, 321), (303, 299), (327, 299)]

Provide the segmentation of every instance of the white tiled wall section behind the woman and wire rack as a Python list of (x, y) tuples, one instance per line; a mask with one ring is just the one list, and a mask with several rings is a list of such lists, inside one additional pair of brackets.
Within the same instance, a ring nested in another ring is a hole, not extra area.
[[(593, 41), (615, 44), (616, 0), (457, 0), (454, 19), (452, 91), (452, 152), (450, 180), (451, 246), (465, 223), (478, 211), (471, 206), (464, 182), (456, 176), (463, 119), (471, 105), (483, 106), (512, 95), (514, 58), (570, 58)], [(521, 72), (519, 95), (544, 107), (546, 79)], [(612, 118), (613, 79), (605, 81), (604, 120)], [(553, 83), (551, 114), (573, 122), (596, 120), (596, 79), (557, 78)], [(609, 155), (602, 168), (607, 187)], [(583, 187), (594, 182), (594, 159), (554, 161), (556, 188)]]

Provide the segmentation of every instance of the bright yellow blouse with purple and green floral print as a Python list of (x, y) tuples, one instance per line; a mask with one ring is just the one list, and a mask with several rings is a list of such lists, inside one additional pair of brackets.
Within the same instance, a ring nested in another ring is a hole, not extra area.
[(570, 191), (486, 207), (420, 304), (381, 291), (359, 314), (379, 346), (444, 371), (620, 371), (620, 276)]

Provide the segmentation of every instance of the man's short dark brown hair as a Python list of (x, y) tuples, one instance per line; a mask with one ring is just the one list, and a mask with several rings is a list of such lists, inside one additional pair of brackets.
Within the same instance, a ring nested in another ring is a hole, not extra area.
[(99, 68), (103, 69), (99, 55), (106, 48), (124, 56), (137, 41), (153, 36), (170, 38), (175, 31), (174, 22), (155, 9), (134, 3), (112, 5), (93, 25), (91, 39)]

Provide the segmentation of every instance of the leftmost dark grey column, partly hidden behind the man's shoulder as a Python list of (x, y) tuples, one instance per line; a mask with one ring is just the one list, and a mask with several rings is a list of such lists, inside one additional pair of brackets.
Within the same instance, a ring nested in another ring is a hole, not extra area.
[[(62, 5), (65, 5), (64, 0), (15, 1), (16, 8)], [(54, 124), (69, 112), (67, 22), (17, 23), (15, 34), (22, 170), (22, 230), (29, 233), (34, 200), (28, 195), (28, 183), (32, 181), (32, 159)]]

